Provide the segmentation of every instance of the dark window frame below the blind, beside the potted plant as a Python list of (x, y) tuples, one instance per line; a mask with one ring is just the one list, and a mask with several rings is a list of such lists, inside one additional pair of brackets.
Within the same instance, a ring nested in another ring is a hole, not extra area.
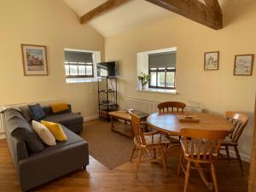
[[(161, 67), (163, 68), (163, 67)], [(152, 72), (155, 72), (156, 73), (156, 86), (152, 86), (150, 84), (151, 82), (151, 73)], [(162, 87), (162, 86), (158, 86), (158, 73), (159, 72), (165, 72), (165, 86)], [(166, 73), (167, 72), (174, 72), (174, 86), (173, 87), (166, 87)], [(172, 67), (172, 69), (168, 69), (168, 67), (166, 67), (165, 69), (159, 69), (159, 68), (156, 68), (155, 70), (151, 70), (149, 68), (149, 62), (148, 62), (148, 74), (149, 74), (149, 82), (148, 82), (148, 88), (156, 88), (156, 89), (166, 89), (166, 90), (176, 90), (176, 80), (175, 80), (175, 77), (176, 77), (176, 67)]]

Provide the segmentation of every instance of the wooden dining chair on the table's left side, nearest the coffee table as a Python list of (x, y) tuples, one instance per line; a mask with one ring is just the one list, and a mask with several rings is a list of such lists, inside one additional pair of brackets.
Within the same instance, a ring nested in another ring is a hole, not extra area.
[[(133, 159), (134, 152), (136, 150), (139, 151), (137, 157), (137, 173), (141, 163), (142, 155), (146, 153), (149, 154), (150, 160), (162, 161), (165, 174), (167, 175), (164, 148), (166, 148), (170, 141), (166, 137), (162, 136), (160, 131), (144, 132), (140, 123), (140, 118), (136, 114), (132, 113), (132, 111), (129, 111), (129, 113), (131, 116), (132, 128), (135, 134), (134, 147), (131, 152), (131, 160)], [(158, 158), (156, 158), (155, 154), (157, 150), (160, 152), (160, 156)], [(154, 155), (152, 155), (151, 152), (153, 152)]]

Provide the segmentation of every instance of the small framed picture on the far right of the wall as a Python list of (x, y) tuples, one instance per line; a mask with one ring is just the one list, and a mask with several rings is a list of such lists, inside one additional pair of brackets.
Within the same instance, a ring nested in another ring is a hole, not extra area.
[(251, 76), (253, 74), (254, 55), (236, 55), (234, 64), (234, 75)]

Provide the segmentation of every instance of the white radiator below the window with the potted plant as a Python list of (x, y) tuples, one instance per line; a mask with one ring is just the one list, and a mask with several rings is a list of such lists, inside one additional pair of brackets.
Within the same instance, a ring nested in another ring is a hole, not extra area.
[[(159, 103), (160, 102), (126, 97), (124, 101), (124, 109), (133, 108), (135, 110), (143, 111), (144, 113), (156, 113), (158, 112), (157, 105)], [(193, 112), (193, 113), (203, 112), (203, 108), (193, 107), (193, 106), (187, 106), (184, 110), (186, 112)]]

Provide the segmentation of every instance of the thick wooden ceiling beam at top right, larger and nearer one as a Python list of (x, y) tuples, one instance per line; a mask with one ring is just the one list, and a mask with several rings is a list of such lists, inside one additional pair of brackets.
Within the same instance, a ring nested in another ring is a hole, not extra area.
[(194, 20), (212, 29), (223, 28), (223, 15), (218, 0), (146, 0), (150, 3), (170, 10), (178, 15), (183, 15), (189, 20)]

